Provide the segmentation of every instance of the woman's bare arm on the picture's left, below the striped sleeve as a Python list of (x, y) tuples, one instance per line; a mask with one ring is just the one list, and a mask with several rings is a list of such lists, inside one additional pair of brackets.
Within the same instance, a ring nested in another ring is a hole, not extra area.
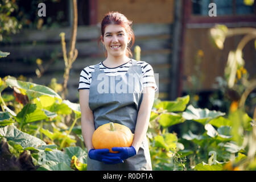
[(79, 102), (81, 109), (81, 129), (87, 150), (93, 148), (92, 135), (94, 128), (94, 116), (89, 107), (89, 90), (79, 90)]

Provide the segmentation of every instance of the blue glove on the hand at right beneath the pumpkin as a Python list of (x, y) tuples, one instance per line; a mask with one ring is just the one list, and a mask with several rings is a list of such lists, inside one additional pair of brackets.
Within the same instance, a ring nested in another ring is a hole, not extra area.
[(131, 147), (113, 147), (113, 151), (116, 151), (118, 153), (110, 153), (112, 156), (118, 156), (120, 159), (125, 160), (130, 158), (131, 156), (134, 156), (137, 154), (135, 148), (133, 146)]

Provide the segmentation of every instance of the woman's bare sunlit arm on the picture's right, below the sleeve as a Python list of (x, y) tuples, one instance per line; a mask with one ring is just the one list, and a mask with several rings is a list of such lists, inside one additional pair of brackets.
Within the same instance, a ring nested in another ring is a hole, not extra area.
[(139, 108), (137, 123), (134, 131), (134, 139), (132, 146), (138, 152), (139, 147), (141, 146), (142, 140), (144, 139), (148, 124), (150, 121), (150, 113), (152, 106), (154, 104), (155, 98), (155, 89), (152, 86), (143, 88), (143, 99), (141, 106)]

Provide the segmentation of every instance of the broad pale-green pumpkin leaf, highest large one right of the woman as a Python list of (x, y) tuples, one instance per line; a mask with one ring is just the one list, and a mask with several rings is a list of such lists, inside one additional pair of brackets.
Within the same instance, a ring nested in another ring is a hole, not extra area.
[(183, 112), (182, 117), (187, 120), (197, 121), (203, 125), (208, 123), (210, 120), (220, 117), (221, 115), (225, 115), (225, 113), (221, 113), (216, 110), (209, 109), (196, 109), (192, 105), (189, 105), (187, 109)]

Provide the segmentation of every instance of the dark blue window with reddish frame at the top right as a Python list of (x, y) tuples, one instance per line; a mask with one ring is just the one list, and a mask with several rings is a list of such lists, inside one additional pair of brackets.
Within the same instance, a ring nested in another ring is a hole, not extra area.
[[(255, 26), (256, 1), (252, 6), (246, 6), (243, 1), (183, 0), (184, 23), (192, 27), (202, 23), (205, 26), (210, 23), (239, 23), (239, 26)], [(210, 3), (216, 3), (217, 16), (209, 16)]]

